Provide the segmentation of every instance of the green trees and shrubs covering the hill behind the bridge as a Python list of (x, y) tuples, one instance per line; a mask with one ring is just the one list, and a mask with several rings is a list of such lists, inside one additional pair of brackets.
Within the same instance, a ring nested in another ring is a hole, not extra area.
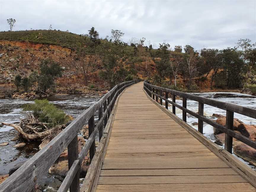
[[(88, 30), (88, 34), (82, 35), (50, 29), (9, 31), (0, 32), (0, 40), (54, 44), (71, 49), (76, 70), (83, 75), (85, 85), (88, 85), (90, 76), (95, 72), (109, 87), (138, 78), (138, 74), (143, 73), (144, 78), (154, 84), (181, 91), (197, 90), (202, 84), (207, 84), (211, 89), (255, 90), (256, 43), (249, 39), (240, 39), (237, 47), (223, 50), (195, 50), (191, 45), (177, 45), (171, 49), (166, 42), (153, 49), (151, 44), (145, 45), (145, 38), (132, 38), (125, 43), (122, 41), (123, 32), (111, 30), (111, 34), (111, 37), (99, 38), (94, 27)], [(145, 63), (145, 68), (138, 70), (135, 64), (140, 63)], [(148, 68), (149, 65), (151, 68)], [(51, 85), (53, 80), (49, 81)], [(25, 77), (20, 79), (17, 76), (14, 80), (17, 89), (20, 86), (27, 89), (26, 82)], [(39, 80), (34, 82), (42, 87)], [(51, 85), (44, 86), (44, 91)]]

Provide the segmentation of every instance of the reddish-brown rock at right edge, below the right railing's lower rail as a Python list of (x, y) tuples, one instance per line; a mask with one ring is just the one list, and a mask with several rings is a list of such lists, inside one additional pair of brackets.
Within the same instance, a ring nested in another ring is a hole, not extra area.
[(244, 143), (235, 145), (233, 152), (242, 159), (256, 166), (256, 150)]

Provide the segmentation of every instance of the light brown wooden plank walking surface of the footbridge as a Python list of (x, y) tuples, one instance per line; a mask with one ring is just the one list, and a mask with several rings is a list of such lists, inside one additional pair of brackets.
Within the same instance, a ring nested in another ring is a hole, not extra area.
[(256, 190), (153, 104), (140, 82), (119, 99), (96, 191)]

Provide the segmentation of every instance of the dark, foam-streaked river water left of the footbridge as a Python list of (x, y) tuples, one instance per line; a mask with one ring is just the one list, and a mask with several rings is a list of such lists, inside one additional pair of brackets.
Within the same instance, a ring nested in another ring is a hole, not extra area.
[[(58, 95), (46, 98), (74, 118), (100, 99), (100, 97), (87, 97), (85, 95)], [(18, 123), (25, 116), (20, 106), (27, 103), (33, 103), (33, 100), (0, 99), (0, 122)], [(98, 114), (95, 113), (96, 122), (97, 119)], [(0, 143), (9, 143), (9, 145), (0, 147), (0, 175), (8, 174), (9, 169), (15, 164), (25, 161), (39, 151), (39, 142), (26, 144), (24, 148), (19, 149), (12, 147), (19, 143), (11, 141), (16, 133), (17, 131), (13, 127), (0, 125)]]

